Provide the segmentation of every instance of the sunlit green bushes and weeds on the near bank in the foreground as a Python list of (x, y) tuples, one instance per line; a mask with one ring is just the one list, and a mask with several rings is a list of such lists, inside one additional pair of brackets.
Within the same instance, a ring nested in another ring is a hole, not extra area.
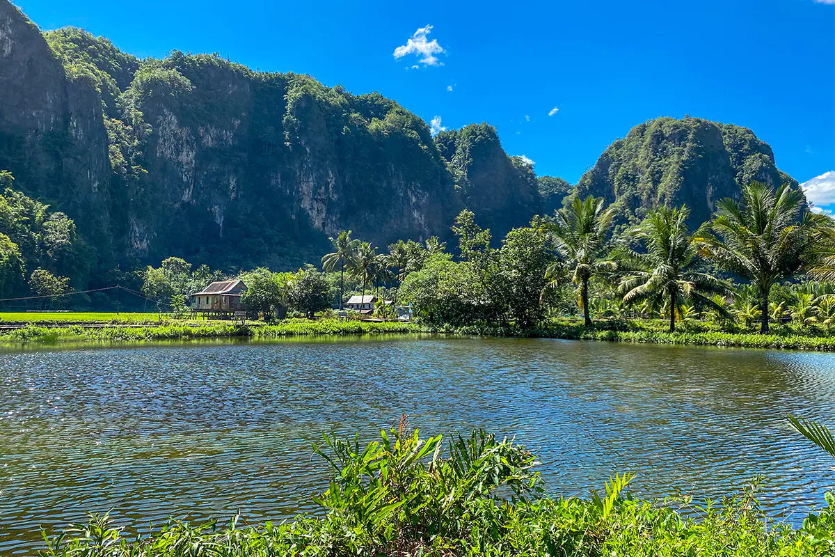
[(321, 513), (281, 524), (171, 520), (129, 535), (108, 515), (47, 537), (43, 555), (782, 555), (835, 551), (835, 495), (802, 526), (781, 524), (757, 503), (756, 482), (736, 497), (643, 501), (634, 475), (615, 475), (590, 498), (545, 492), (534, 455), (512, 440), (473, 432), (421, 438), (405, 418), (378, 441), (326, 435), (314, 448), (330, 468)]

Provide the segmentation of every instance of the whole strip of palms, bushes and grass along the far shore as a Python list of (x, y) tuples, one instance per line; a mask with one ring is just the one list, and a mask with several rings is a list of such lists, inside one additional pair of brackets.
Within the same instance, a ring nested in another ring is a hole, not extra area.
[[(687, 207), (662, 206), (634, 222), (615, 215), (603, 198), (574, 197), (495, 246), (490, 230), (464, 210), (452, 229), (457, 246), (432, 237), (398, 241), (386, 253), (344, 230), (331, 239), (323, 271), (308, 265), (238, 273), (249, 286), (245, 328), (188, 322), (186, 295), (225, 275), (170, 257), (149, 266), (139, 286), (145, 306), (156, 301), (166, 331), (89, 334), (255, 336), (271, 331), (262, 322), (273, 321), (278, 307), (292, 318), (315, 319), (276, 331), (343, 332), (357, 326), (314, 323), (335, 318), (347, 296), (372, 292), (375, 317), (392, 319), (396, 306), (409, 306), (417, 324), (410, 332), (832, 349), (835, 225), (807, 210), (798, 190), (751, 183), (741, 200), (722, 200), (713, 219), (693, 232)], [(162, 311), (172, 319), (164, 321)], [(6, 334), (38, 338), (33, 328)]]

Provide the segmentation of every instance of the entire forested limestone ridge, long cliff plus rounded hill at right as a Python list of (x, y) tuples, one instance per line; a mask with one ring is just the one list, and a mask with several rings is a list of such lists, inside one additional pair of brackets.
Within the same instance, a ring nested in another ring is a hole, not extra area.
[[(554, 154), (559, 156), (559, 154)], [(351, 229), (375, 246), (452, 236), (472, 210), (501, 238), (574, 195), (621, 224), (657, 205), (705, 220), (741, 185), (797, 182), (746, 128), (655, 119), (569, 185), (537, 177), (490, 124), (436, 137), (381, 94), (218, 54), (139, 59), (78, 28), (41, 33), (0, 0), (0, 296), (42, 269), (76, 290), (138, 287), (169, 256), (226, 273), (319, 261)]]

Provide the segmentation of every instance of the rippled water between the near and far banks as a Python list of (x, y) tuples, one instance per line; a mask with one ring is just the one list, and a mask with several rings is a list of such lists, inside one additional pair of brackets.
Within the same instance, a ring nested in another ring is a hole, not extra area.
[(387, 338), (0, 353), (0, 553), (86, 511), (248, 522), (314, 511), (321, 432), (488, 428), (533, 448), (554, 494), (638, 473), (697, 499), (767, 476), (799, 522), (832, 461), (785, 415), (835, 418), (835, 354), (534, 339)]

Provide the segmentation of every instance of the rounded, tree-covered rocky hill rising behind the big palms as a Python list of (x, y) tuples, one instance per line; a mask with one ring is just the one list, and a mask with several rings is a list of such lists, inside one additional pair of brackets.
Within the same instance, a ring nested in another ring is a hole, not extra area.
[(705, 119), (659, 118), (611, 144), (579, 180), (577, 195), (605, 197), (636, 220), (659, 205), (691, 208), (691, 224), (711, 217), (716, 201), (738, 198), (751, 180), (797, 181), (777, 170), (767, 143), (750, 129)]

